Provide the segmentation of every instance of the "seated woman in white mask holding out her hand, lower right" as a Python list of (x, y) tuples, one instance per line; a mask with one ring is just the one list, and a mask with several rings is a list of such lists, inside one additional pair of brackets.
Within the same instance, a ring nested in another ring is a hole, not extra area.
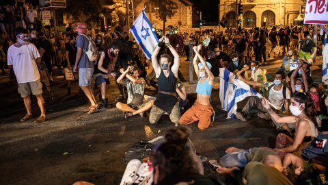
[(286, 153), (293, 153), (301, 158), (301, 149), (318, 136), (318, 123), (316, 122), (316, 110), (309, 93), (294, 93), (290, 98), (290, 112), (292, 116), (279, 116), (272, 110), (267, 99), (262, 99), (262, 105), (277, 123), (296, 123), (295, 138), (286, 134), (278, 134), (275, 142), (275, 150), (280, 157)]

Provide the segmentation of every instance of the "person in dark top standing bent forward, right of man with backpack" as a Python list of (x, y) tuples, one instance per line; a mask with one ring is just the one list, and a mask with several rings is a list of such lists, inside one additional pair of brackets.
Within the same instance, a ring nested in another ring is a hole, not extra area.
[(99, 100), (102, 102), (101, 107), (106, 108), (108, 99), (106, 98), (106, 90), (109, 88), (109, 78), (116, 77), (114, 71), (113, 58), (118, 56), (120, 45), (118, 42), (112, 42), (111, 45), (99, 49), (98, 64), (94, 66), (94, 83), (96, 86), (101, 84)]

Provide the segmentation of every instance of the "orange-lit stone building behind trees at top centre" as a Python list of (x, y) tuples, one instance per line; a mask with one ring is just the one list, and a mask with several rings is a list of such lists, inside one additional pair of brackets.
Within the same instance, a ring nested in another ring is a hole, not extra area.
[[(188, 0), (173, 0), (173, 1), (178, 4), (178, 10), (172, 18), (169, 18), (167, 20), (167, 22), (165, 23), (165, 27), (167, 27), (167, 25), (174, 25), (174, 26), (178, 26), (179, 33), (192, 32), (193, 3), (191, 3)], [(158, 18), (156, 18), (156, 11), (161, 11), (161, 10), (158, 10), (149, 0), (141, 0), (141, 3), (135, 5), (135, 18), (139, 16), (139, 14), (143, 10), (143, 8), (145, 8), (146, 5), (147, 8), (145, 9), (145, 12), (146, 15), (148, 16), (150, 23), (156, 29), (163, 29), (163, 21), (160, 21)]]

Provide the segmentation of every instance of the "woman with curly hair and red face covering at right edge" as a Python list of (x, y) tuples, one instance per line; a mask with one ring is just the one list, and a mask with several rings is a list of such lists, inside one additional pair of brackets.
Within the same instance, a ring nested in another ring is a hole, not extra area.
[(321, 84), (311, 84), (309, 87), (310, 95), (312, 97), (314, 107), (316, 108), (318, 130), (328, 131), (328, 112), (325, 104), (327, 95), (325, 94), (325, 88)]

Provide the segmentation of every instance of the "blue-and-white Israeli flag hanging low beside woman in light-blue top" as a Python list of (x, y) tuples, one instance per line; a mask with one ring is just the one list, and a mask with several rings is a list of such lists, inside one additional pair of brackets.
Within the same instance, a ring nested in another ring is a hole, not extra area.
[(260, 93), (245, 82), (238, 80), (238, 77), (226, 68), (220, 68), (220, 100), (223, 110), (228, 112), (227, 119), (236, 117), (237, 103), (245, 97), (257, 96), (262, 98)]

